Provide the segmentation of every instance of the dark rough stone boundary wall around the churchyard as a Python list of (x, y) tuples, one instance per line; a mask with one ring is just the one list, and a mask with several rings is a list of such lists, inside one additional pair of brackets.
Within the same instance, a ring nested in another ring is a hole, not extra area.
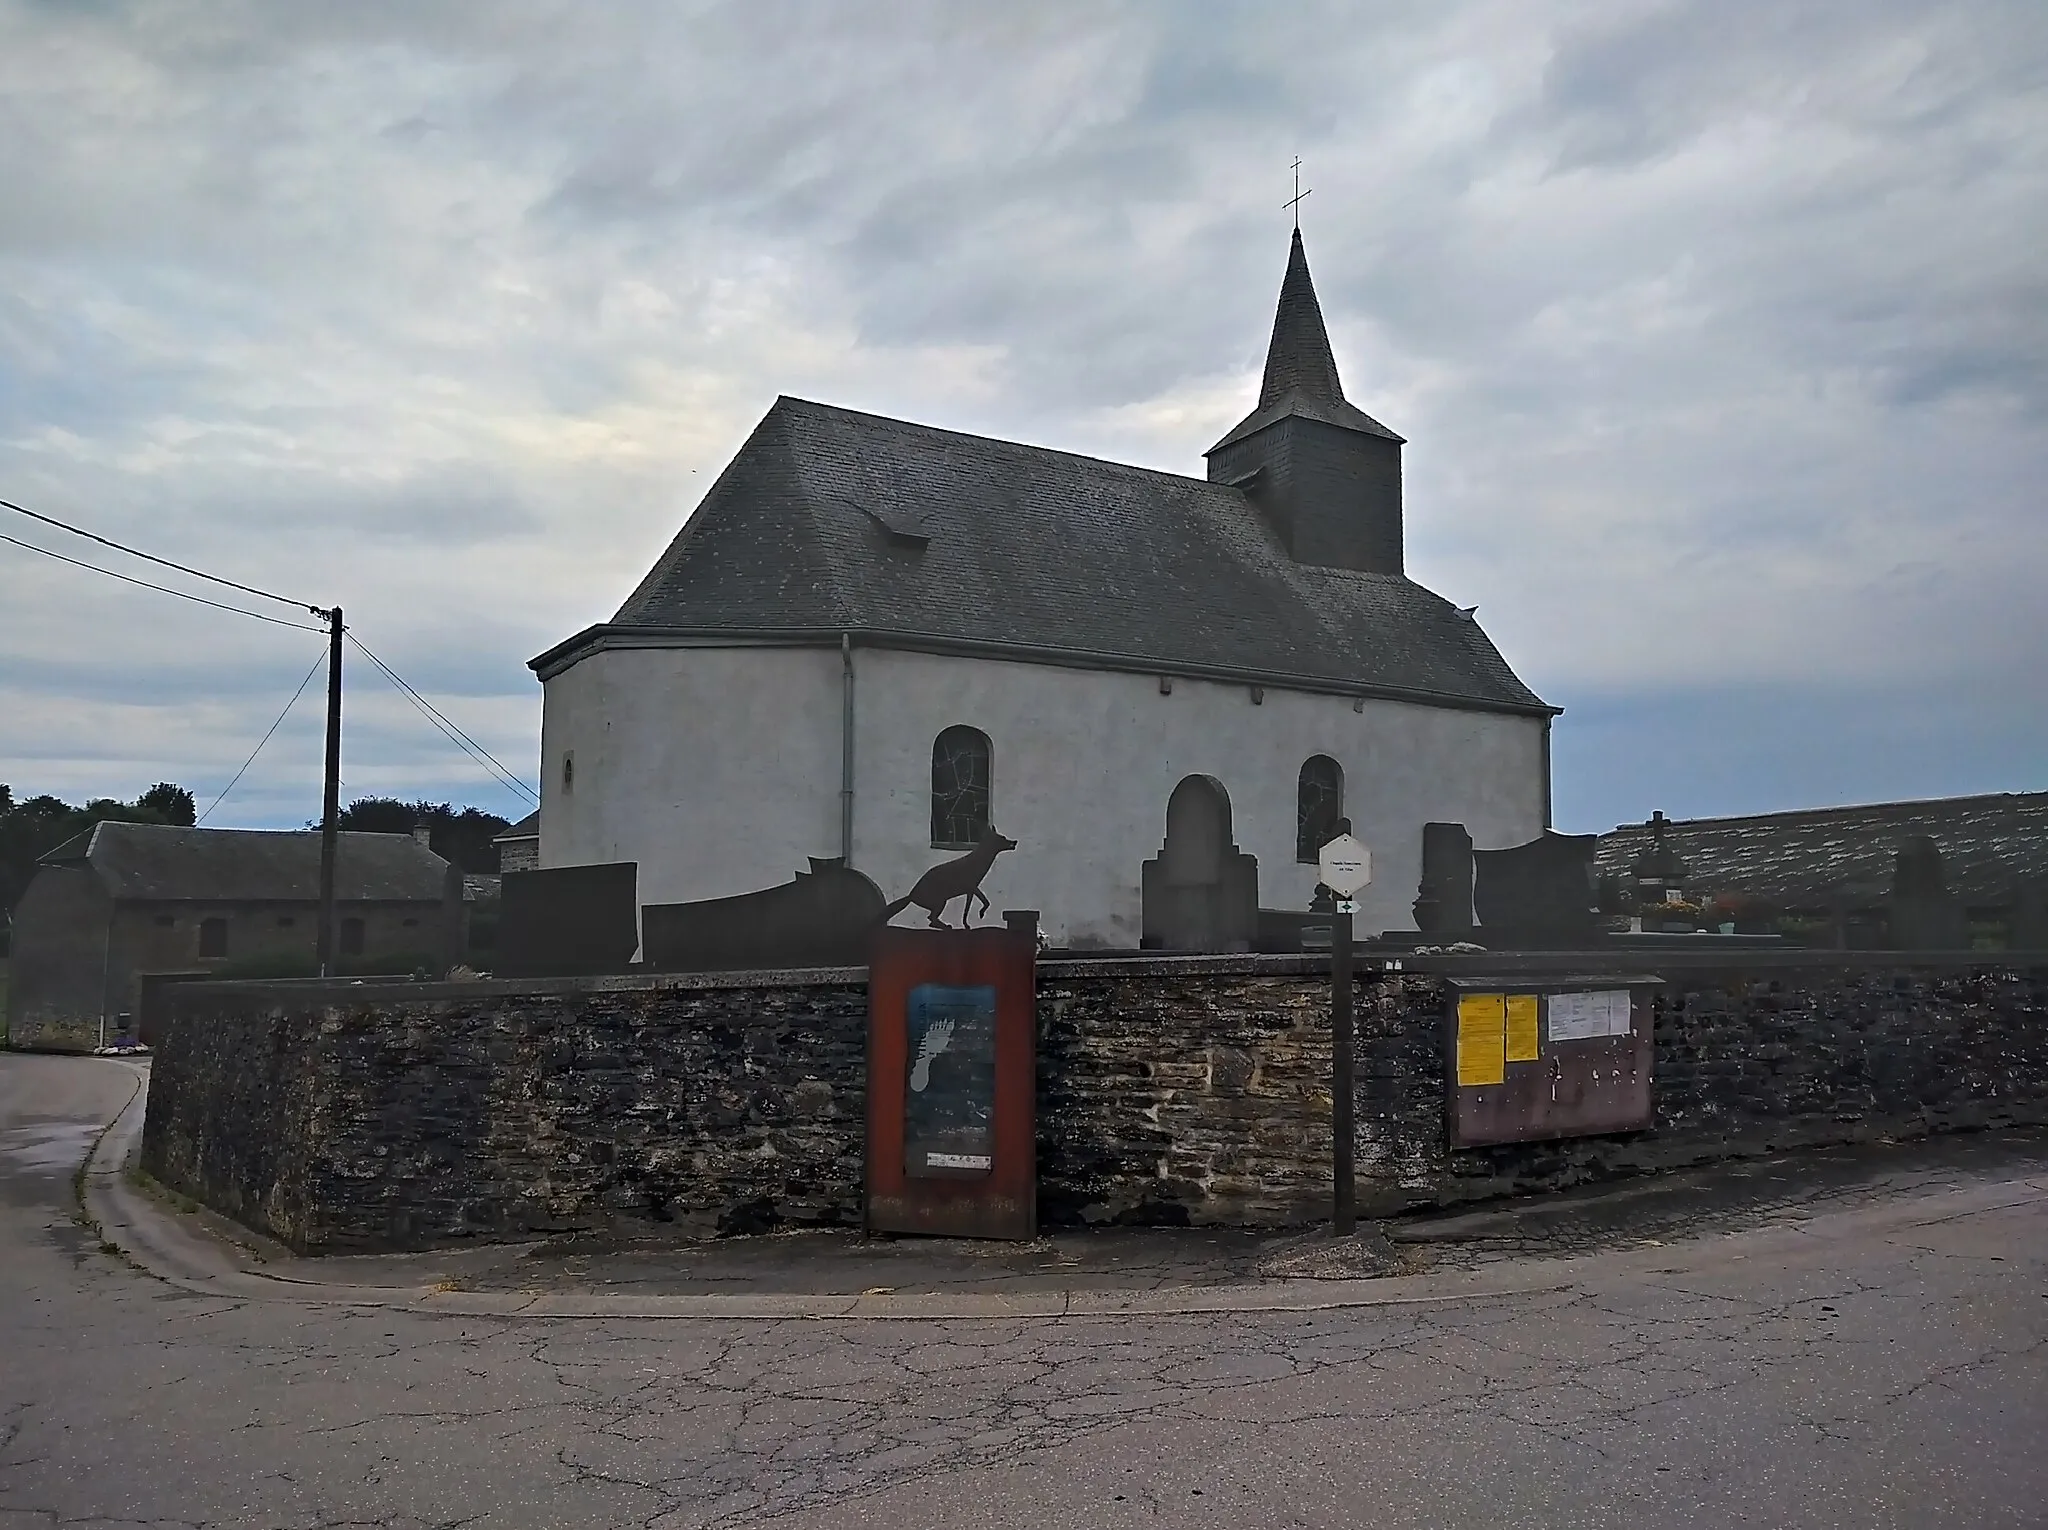
[[(1792, 1145), (2048, 1120), (2048, 959), (1839, 952), (1368, 963), (1366, 1210)], [(1049, 1225), (1288, 1225), (1329, 1204), (1321, 957), (1049, 961)], [(1446, 975), (1661, 971), (1657, 1127), (1450, 1151)], [(858, 1223), (862, 969), (530, 983), (195, 983), (143, 1165), (301, 1251), (674, 1223)]]

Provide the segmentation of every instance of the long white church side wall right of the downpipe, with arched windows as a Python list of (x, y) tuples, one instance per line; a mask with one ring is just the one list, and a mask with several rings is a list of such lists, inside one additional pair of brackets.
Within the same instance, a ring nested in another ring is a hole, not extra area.
[[(1542, 723), (1503, 713), (1313, 696), (858, 649), (854, 864), (891, 897), (948, 852), (930, 842), (932, 739), (954, 723), (993, 746), (989, 817), (1020, 846), (983, 883), (993, 909), (1036, 907), (1061, 944), (1135, 946), (1139, 879), (1165, 803), (1192, 774), (1231, 797), (1237, 846), (1257, 856), (1260, 903), (1307, 909), (1315, 866), (1294, 860), (1303, 760), (1343, 766), (1343, 807), (1374, 848), (1360, 930), (1413, 928), (1421, 825), (1462, 821), (1479, 848), (1542, 832)], [(956, 918), (956, 909), (950, 911)]]

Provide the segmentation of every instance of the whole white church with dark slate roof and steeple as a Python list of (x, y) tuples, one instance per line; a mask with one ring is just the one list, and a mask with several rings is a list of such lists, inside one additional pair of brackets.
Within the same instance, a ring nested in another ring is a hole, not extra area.
[(1556, 709), (1407, 578), (1401, 447), (1298, 229), (1204, 477), (780, 397), (618, 614), (532, 660), (541, 866), (633, 860), (645, 905), (838, 860), (893, 899), (995, 832), (991, 907), (1055, 946), (1243, 950), (1346, 817), (1358, 928), (1413, 928), (1423, 823), (1548, 827)]

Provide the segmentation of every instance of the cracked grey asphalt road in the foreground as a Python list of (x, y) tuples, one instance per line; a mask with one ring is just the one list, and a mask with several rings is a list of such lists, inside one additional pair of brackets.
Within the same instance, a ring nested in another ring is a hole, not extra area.
[(133, 1081), (0, 1055), (0, 1530), (2048, 1524), (2030, 1153), (1667, 1217), (1448, 1303), (475, 1319), (100, 1251), (72, 1174)]

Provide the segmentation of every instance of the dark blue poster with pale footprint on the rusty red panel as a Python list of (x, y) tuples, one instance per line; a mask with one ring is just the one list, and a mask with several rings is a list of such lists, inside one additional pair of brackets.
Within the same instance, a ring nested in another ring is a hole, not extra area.
[(905, 1024), (903, 1172), (987, 1174), (995, 1163), (995, 989), (920, 983)]

